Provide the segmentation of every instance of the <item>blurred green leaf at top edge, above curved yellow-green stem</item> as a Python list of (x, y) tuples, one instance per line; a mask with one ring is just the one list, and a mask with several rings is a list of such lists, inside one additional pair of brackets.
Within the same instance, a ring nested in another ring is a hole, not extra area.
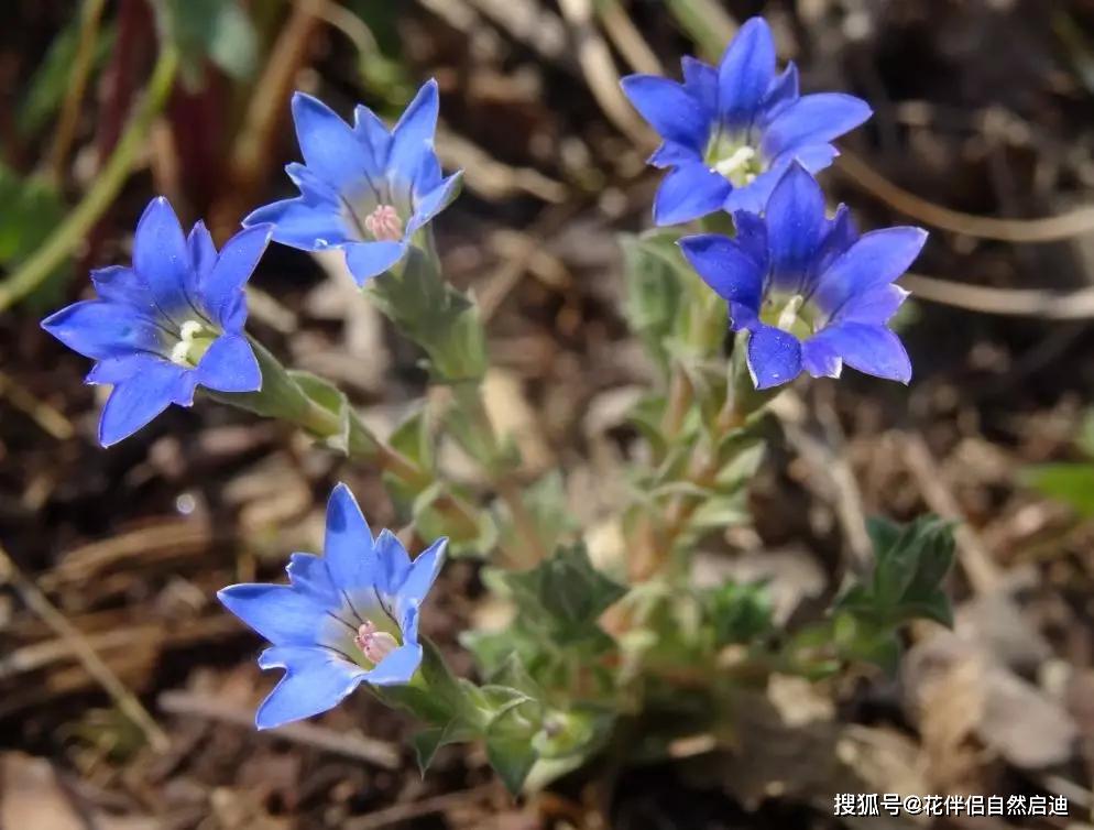
[(153, 8), (160, 36), (174, 43), (182, 55), (188, 86), (201, 84), (206, 59), (237, 79), (253, 75), (258, 35), (238, 0), (155, 0)]

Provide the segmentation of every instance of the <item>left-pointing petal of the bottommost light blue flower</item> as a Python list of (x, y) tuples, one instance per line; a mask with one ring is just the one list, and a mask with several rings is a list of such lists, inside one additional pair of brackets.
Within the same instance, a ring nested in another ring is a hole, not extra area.
[(329, 620), (317, 598), (287, 585), (233, 585), (218, 591), (217, 599), (274, 645), (315, 645)]

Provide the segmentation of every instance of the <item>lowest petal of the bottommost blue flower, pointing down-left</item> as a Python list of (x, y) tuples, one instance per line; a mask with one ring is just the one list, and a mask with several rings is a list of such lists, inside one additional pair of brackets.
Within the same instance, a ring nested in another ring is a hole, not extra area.
[(254, 718), (259, 729), (274, 729), (333, 709), (365, 677), (360, 666), (318, 647), (267, 648), (259, 656), (259, 666), (286, 669), (259, 707)]

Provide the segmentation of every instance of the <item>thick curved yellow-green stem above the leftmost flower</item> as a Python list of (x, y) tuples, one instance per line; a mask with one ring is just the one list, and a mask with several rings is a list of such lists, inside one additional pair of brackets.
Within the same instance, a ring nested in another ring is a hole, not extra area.
[(133, 162), (144, 146), (149, 129), (171, 95), (178, 69), (178, 53), (164, 46), (144, 90), (144, 98), (114, 146), (113, 153), (95, 184), (84, 195), (46, 242), (22, 267), (0, 283), (0, 312), (33, 292), (68, 256), (107, 211), (132, 172)]

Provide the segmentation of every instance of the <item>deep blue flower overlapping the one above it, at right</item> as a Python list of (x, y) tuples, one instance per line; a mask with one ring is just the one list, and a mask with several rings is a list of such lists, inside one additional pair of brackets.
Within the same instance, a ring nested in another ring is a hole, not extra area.
[(893, 284), (927, 241), (919, 228), (858, 236), (845, 206), (832, 219), (813, 177), (794, 164), (764, 218), (734, 215), (736, 238), (686, 237), (680, 247), (703, 281), (729, 301), (730, 325), (748, 337), (757, 389), (798, 376), (860, 372), (907, 383), (911, 362), (887, 327), (908, 296)]

